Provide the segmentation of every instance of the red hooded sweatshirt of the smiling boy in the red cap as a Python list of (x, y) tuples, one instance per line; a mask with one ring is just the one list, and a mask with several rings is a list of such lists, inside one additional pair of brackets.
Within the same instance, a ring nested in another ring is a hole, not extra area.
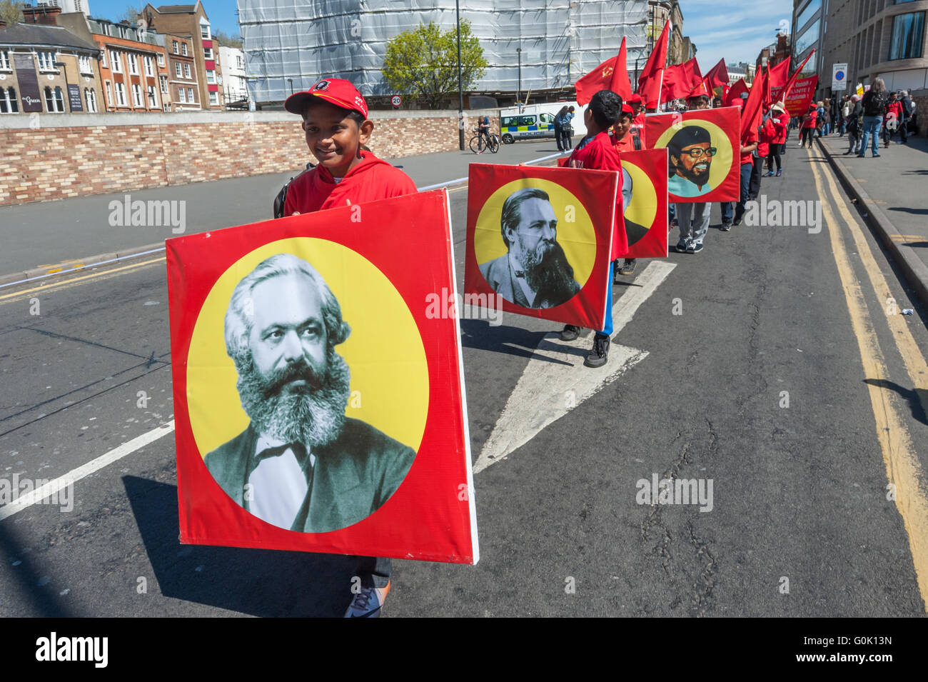
[(359, 204), (390, 199), (417, 191), (416, 184), (403, 171), (362, 150), (361, 161), (338, 183), (324, 166), (316, 166), (297, 175), (287, 189), (284, 215), (346, 206), (349, 201)]

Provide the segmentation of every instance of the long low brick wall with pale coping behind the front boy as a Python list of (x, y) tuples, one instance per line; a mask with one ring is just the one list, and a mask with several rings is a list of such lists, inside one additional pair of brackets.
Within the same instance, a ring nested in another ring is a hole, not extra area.
[[(470, 117), (465, 137), (476, 115)], [(495, 112), (486, 112), (499, 130)], [(384, 159), (458, 148), (456, 111), (372, 112)], [(0, 119), (0, 206), (282, 173), (314, 161), (281, 112), (58, 114)]]

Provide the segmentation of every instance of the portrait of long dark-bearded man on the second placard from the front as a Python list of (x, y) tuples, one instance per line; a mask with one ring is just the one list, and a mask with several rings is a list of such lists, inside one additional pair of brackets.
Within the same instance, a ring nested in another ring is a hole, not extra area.
[(508, 252), (480, 265), (496, 293), (523, 308), (553, 308), (580, 290), (558, 243), (558, 219), (547, 192), (536, 187), (513, 192), (499, 222)]

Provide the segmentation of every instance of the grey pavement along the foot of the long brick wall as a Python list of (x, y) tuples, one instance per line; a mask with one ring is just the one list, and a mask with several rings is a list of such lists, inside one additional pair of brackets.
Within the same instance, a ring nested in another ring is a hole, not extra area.
[[(376, 136), (371, 147), (376, 153)], [(515, 164), (557, 153), (557, 144), (550, 139), (500, 145), (496, 154), (485, 151), (476, 155), (470, 150), (456, 150), (386, 161), (402, 167), (418, 187), (426, 187), (467, 177), (468, 165), (473, 162)], [(184, 202), (183, 234), (269, 220), (273, 217), (277, 192), (303, 169), (301, 162), (295, 161), (294, 170), (289, 173), (2, 206), (0, 240), (4, 248), (0, 250), (0, 285), (160, 248), (164, 239), (177, 236), (178, 222), (123, 225), (127, 222), (122, 220), (124, 212), (113, 213), (116, 207), (125, 204), (127, 197), (130, 201)], [(111, 202), (115, 202), (112, 207)], [(177, 206), (175, 214), (179, 216), (180, 204)]]

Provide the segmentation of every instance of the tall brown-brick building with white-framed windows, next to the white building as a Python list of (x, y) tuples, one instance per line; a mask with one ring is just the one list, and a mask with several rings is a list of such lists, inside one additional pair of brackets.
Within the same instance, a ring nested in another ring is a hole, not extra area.
[(200, 106), (203, 109), (222, 109), (223, 86), (217, 66), (219, 45), (213, 41), (210, 19), (200, 0), (195, 5), (155, 7), (148, 4), (142, 8), (139, 23), (157, 32), (190, 36), (197, 67)]

